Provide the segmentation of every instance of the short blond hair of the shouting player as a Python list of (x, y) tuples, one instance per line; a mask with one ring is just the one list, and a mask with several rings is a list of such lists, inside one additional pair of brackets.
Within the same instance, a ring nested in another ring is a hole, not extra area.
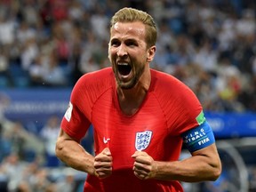
[(143, 12), (134, 8), (124, 7), (120, 9), (118, 12), (110, 20), (110, 30), (116, 24), (116, 22), (134, 22), (140, 21), (146, 26), (146, 43), (148, 47), (156, 45), (156, 23), (154, 19), (147, 12)]

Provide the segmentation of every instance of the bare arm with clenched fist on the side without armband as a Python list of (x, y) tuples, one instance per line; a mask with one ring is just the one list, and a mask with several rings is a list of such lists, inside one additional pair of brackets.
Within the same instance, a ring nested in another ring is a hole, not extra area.
[(87, 172), (99, 178), (106, 178), (112, 173), (112, 156), (108, 148), (94, 157), (62, 129), (60, 129), (55, 151), (62, 162), (78, 171)]

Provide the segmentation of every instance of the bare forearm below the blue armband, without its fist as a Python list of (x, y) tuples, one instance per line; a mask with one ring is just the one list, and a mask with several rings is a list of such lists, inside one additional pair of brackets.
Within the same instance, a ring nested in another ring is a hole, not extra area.
[(215, 144), (192, 153), (191, 157), (175, 162), (155, 162), (152, 174), (158, 180), (199, 182), (217, 180), (221, 162)]

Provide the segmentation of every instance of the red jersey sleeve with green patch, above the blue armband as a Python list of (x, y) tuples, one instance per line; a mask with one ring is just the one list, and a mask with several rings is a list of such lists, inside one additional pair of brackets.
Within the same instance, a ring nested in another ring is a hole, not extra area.
[(168, 132), (181, 136), (183, 132), (204, 123), (203, 108), (196, 94), (180, 80), (173, 76), (163, 75), (164, 79), (157, 86), (159, 103), (163, 108)]

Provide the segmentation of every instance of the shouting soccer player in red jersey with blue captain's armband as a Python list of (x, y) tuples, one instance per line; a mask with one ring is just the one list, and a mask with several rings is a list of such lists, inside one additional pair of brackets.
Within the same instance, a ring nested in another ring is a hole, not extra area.
[[(86, 192), (177, 192), (180, 181), (220, 176), (214, 135), (195, 94), (149, 67), (156, 33), (147, 12), (119, 10), (110, 23), (112, 68), (85, 74), (73, 88), (56, 155), (88, 173)], [(91, 124), (95, 156), (80, 145)], [(191, 156), (179, 161), (182, 143)]]

